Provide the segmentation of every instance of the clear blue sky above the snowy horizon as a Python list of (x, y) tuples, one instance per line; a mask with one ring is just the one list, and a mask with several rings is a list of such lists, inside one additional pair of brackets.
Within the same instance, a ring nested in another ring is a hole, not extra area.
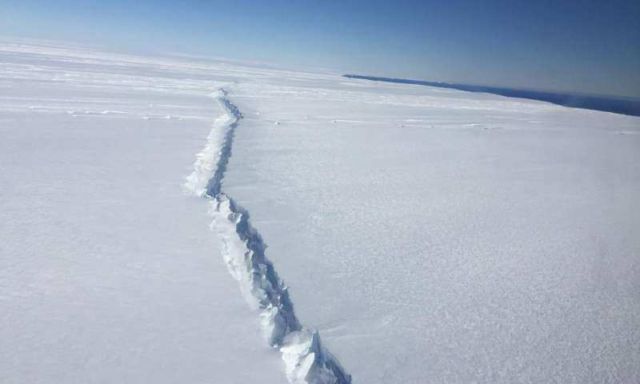
[(640, 97), (639, 0), (0, 0), (0, 35)]

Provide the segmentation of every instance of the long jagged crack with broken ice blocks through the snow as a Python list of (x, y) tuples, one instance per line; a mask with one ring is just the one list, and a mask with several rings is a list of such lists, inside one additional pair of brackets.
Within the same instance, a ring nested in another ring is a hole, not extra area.
[(233, 136), (242, 119), (240, 110), (220, 89), (212, 96), (224, 111), (198, 153), (185, 188), (210, 201), (211, 228), (222, 241), (230, 274), (238, 281), (247, 302), (260, 312), (261, 327), (285, 362), (291, 383), (349, 384), (338, 360), (320, 343), (316, 330), (304, 327), (295, 315), (287, 286), (266, 257), (266, 245), (249, 221), (249, 213), (222, 192), (222, 179), (231, 157)]

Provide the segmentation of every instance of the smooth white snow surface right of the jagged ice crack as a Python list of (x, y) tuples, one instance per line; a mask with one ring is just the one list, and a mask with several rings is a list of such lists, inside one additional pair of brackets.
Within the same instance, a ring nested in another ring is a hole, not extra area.
[(640, 119), (238, 84), (224, 180), (362, 383), (640, 382)]

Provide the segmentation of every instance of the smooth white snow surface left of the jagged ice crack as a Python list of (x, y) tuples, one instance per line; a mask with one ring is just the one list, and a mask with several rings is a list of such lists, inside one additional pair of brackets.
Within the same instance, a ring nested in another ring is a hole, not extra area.
[(182, 189), (216, 73), (0, 47), (1, 383), (286, 383)]

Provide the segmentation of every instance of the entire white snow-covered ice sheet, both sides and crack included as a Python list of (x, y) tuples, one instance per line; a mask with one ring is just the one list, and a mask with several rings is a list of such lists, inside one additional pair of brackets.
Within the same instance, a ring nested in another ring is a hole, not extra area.
[(0, 68), (0, 382), (640, 382), (640, 118), (50, 44)]

